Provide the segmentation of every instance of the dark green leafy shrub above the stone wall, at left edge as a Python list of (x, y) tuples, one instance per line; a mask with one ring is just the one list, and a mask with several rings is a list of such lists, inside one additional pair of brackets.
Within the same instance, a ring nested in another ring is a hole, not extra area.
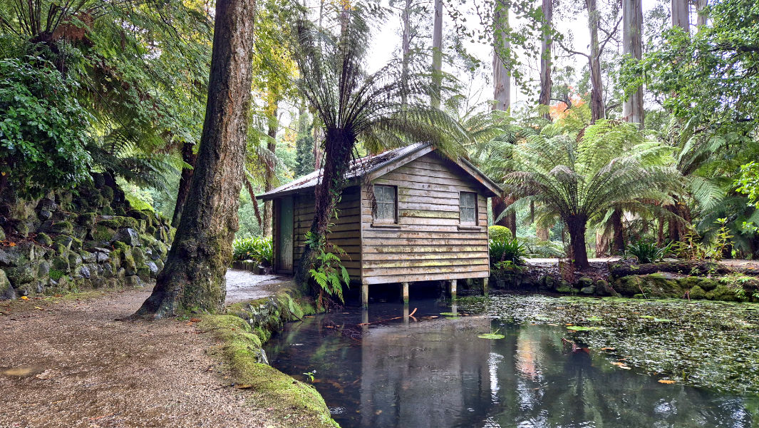
[(76, 89), (42, 58), (0, 60), (0, 173), (18, 192), (39, 196), (90, 179), (92, 116)]

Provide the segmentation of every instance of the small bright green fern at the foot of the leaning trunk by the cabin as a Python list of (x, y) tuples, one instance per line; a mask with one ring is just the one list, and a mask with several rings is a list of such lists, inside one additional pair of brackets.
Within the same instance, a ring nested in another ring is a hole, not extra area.
[(320, 306), (323, 301), (323, 293), (344, 302), (342, 284), (347, 287), (351, 282), (348, 270), (341, 264), (339, 257), (339, 255), (345, 256), (345, 252), (339, 246), (327, 243), (323, 237), (314, 235), (310, 230), (306, 233), (306, 245), (316, 250), (316, 258), (308, 273), (320, 287), (318, 300)]

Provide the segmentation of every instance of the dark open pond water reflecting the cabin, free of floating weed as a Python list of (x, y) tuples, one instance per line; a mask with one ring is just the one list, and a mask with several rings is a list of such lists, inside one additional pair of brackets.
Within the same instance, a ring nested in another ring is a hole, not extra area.
[[(401, 303), (306, 318), (266, 353), (313, 382), (343, 428), (759, 425), (753, 395), (660, 383), (666, 376), (620, 366), (608, 350), (573, 352), (563, 325), (491, 319), (442, 300), (414, 308), (411, 319)], [(477, 337), (489, 332), (505, 338)]]

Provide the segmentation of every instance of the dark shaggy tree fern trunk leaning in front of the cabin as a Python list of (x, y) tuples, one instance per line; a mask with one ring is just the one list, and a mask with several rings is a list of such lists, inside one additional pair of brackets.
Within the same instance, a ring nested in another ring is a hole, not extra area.
[[(326, 236), (329, 220), (332, 219), (345, 187), (345, 172), (348, 171), (355, 142), (356, 136), (350, 130), (330, 128), (325, 132), (324, 169), (315, 189), (316, 201), (310, 229), (314, 236)], [(304, 289), (307, 288), (308, 269), (313, 264), (315, 250), (311, 246), (305, 246), (295, 269), (295, 282)]]

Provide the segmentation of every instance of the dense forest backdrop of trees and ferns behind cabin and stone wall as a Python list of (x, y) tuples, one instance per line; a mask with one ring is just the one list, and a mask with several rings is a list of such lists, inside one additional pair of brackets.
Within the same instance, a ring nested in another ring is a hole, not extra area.
[[(0, 0), (3, 197), (73, 189), (100, 172), (134, 206), (178, 224), (214, 8)], [(272, 209), (257, 194), (424, 140), (502, 184), (491, 221), (562, 243), (579, 265), (640, 240), (710, 246), (720, 230), (730, 236), (722, 256), (759, 256), (755, 2), (255, 8), (239, 237), (271, 235)]]

